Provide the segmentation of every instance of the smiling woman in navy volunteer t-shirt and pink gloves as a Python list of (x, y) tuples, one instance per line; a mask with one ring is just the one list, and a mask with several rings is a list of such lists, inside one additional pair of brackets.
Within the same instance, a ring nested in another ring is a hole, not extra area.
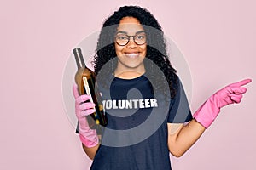
[(167, 57), (160, 25), (136, 6), (121, 7), (104, 22), (94, 63), (108, 117), (101, 144), (84, 117), (95, 112), (94, 104), (84, 103), (90, 96), (79, 96), (73, 86), (79, 137), (94, 160), (90, 169), (172, 169), (169, 152), (182, 156), (221, 107), (241, 101), (246, 92), (241, 86), (251, 82), (247, 79), (219, 90), (192, 117)]

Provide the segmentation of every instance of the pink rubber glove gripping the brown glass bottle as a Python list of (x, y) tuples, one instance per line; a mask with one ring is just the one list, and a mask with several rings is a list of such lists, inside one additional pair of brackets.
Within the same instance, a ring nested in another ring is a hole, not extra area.
[(90, 99), (90, 95), (79, 95), (78, 85), (73, 84), (73, 96), (75, 98), (75, 113), (79, 120), (79, 137), (81, 142), (88, 148), (99, 143), (96, 130), (90, 129), (85, 116), (95, 112), (94, 103), (85, 101)]

